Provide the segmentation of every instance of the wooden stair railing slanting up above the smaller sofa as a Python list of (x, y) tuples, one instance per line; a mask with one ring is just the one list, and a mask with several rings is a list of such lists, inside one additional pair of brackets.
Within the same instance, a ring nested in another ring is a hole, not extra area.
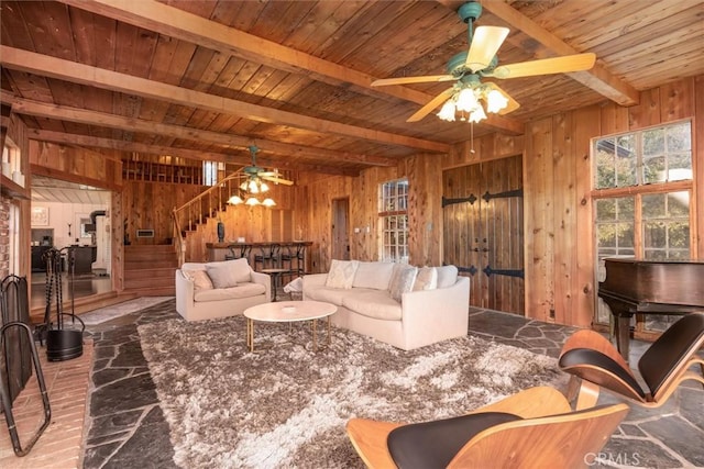
[(244, 171), (239, 169), (188, 202), (174, 209), (172, 225), (179, 266), (186, 261), (185, 232), (195, 230), (196, 225), (202, 224), (207, 219), (215, 216), (216, 212), (224, 210), (228, 200), (234, 192), (239, 191), (240, 183), (245, 177)]

